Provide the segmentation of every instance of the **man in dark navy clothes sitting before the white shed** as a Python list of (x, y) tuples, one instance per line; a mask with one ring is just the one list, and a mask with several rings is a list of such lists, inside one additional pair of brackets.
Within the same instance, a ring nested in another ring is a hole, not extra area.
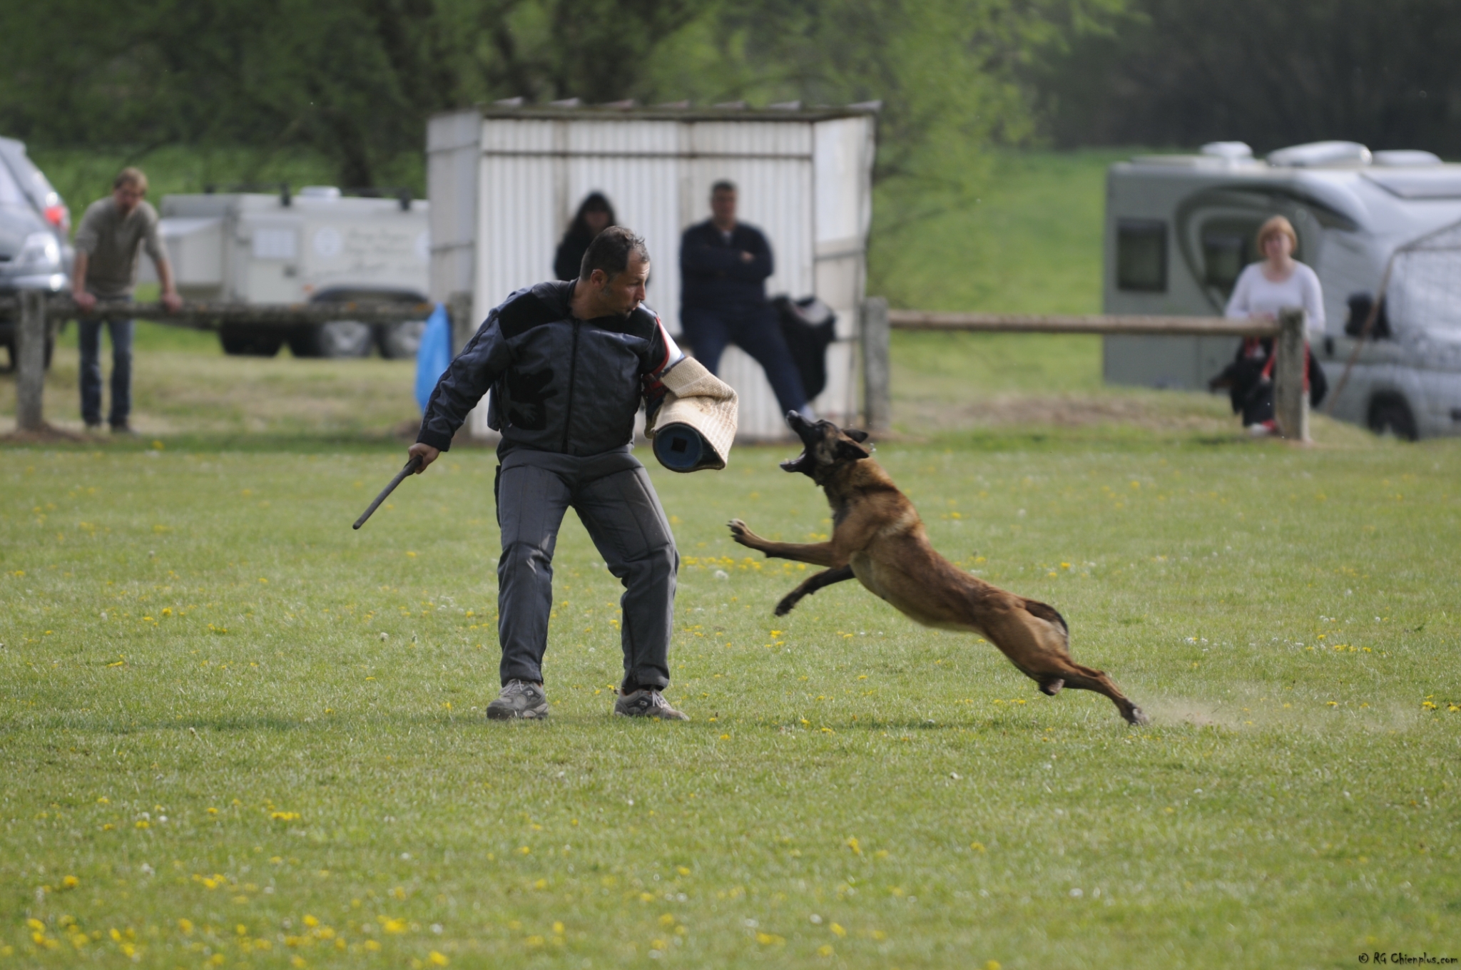
[(760, 229), (736, 222), (735, 203), (735, 184), (717, 181), (710, 190), (714, 215), (685, 229), (679, 242), (685, 342), (712, 374), (720, 373), (720, 355), (735, 343), (766, 371), (782, 413), (799, 410), (815, 421), (780, 323), (766, 301), (771, 247)]

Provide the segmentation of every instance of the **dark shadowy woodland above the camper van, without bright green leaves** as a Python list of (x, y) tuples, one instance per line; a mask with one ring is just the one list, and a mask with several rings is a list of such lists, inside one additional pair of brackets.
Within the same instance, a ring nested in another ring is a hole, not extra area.
[(1113, 23), (1030, 75), (1059, 143), (1461, 155), (1455, 0), (1134, 0)]

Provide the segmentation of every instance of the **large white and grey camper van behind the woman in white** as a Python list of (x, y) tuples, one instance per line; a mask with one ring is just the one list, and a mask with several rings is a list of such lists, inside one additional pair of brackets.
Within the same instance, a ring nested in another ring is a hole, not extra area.
[[(1217, 142), (1118, 162), (1106, 181), (1106, 313), (1221, 314), (1273, 215), (1293, 224), (1294, 256), (1324, 285), (1313, 352), (1331, 389), (1382, 297), (1334, 415), (1405, 438), (1461, 434), (1461, 165), (1429, 152), (1318, 142), (1259, 161)], [(1235, 351), (1233, 339), (1107, 336), (1105, 377), (1201, 389)]]

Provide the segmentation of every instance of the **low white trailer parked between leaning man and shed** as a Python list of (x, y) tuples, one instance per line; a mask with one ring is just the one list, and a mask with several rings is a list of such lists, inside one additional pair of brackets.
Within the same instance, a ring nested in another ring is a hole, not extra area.
[[(348, 197), (330, 186), (297, 194), (200, 193), (162, 199), (164, 244), (187, 299), (238, 302), (425, 302), (428, 206), (409, 194)], [(155, 280), (150, 260), (140, 279)], [(424, 323), (349, 320), (279, 327), (229, 323), (228, 354), (273, 356), (415, 356)]]

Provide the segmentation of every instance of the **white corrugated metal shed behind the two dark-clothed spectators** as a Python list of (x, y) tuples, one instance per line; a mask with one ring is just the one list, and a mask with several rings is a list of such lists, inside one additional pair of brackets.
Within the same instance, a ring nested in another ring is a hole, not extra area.
[[(649, 244), (649, 305), (679, 335), (679, 237), (707, 219), (710, 186), (739, 187), (739, 218), (771, 242), (767, 295), (815, 295), (837, 314), (817, 412), (858, 416), (855, 348), (872, 216), (875, 110), (659, 110), (492, 107), (427, 127), (431, 298), (472, 295), (473, 317), (552, 276), (579, 203), (602, 191)], [(786, 424), (760, 365), (736, 348), (720, 377), (741, 396), (741, 435)], [(487, 434), (487, 409), (473, 434)]]

